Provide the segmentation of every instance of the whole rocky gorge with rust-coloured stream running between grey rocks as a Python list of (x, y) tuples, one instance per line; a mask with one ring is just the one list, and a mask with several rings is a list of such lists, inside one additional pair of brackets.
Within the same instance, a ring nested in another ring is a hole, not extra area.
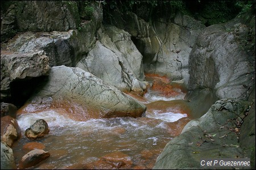
[[(211, 25), (138, 7), (1, 9), (1, 169), (17, 168), (32, 142), (50, 153), (33, 169), (199, 169), (202, 158), (250, 158), (255, 169), (255, 3)], [(41, 118), (49, 134), (24, 137)]]

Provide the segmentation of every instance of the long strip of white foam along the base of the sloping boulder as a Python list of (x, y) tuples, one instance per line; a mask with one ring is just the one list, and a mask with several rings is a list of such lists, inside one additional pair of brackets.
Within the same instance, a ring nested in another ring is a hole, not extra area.
[[(101, 118), (87, 121), (75, 121), (55, 111), (44, 111), (40, 113), (24, 113), (16, 117), (20, 129), (24, 132), (30, 128), (36, 120), (43, 119), (47, 122), (53, 135), (61, 133), (79, 133), (80, 131), (104, 132), (115, 128), (125, 128), (128, 131), (152, 131), (154, 128), (147, 126), (144, 122), (137, 121), (132, 117)], [(160, 128), (160, 127), (159, 127)], [(61, 130), (60, 130), (61, 129)]]

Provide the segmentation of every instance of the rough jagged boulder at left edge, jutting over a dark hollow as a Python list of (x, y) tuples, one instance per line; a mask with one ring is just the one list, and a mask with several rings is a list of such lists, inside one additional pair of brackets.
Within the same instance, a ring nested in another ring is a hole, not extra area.
[(11, 83), (48, 75), (48, 57), (42, 52), (1, 54), (1, 100), (11, 97)]

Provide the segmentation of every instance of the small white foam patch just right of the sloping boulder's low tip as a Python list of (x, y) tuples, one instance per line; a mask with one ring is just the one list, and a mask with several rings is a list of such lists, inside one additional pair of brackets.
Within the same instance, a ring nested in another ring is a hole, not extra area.
[(175, 122), (179, 120), (180, 118), (187, 117), (187, 114), (182, 113), (172, 113), (172, 112), (166, 112), (166, 113), (158, 113), (158, 111), (153, 111), (152, 114), (146, 114), (146, 117), (149, 118), (155, 118), (160, 119), (166, 122)]

